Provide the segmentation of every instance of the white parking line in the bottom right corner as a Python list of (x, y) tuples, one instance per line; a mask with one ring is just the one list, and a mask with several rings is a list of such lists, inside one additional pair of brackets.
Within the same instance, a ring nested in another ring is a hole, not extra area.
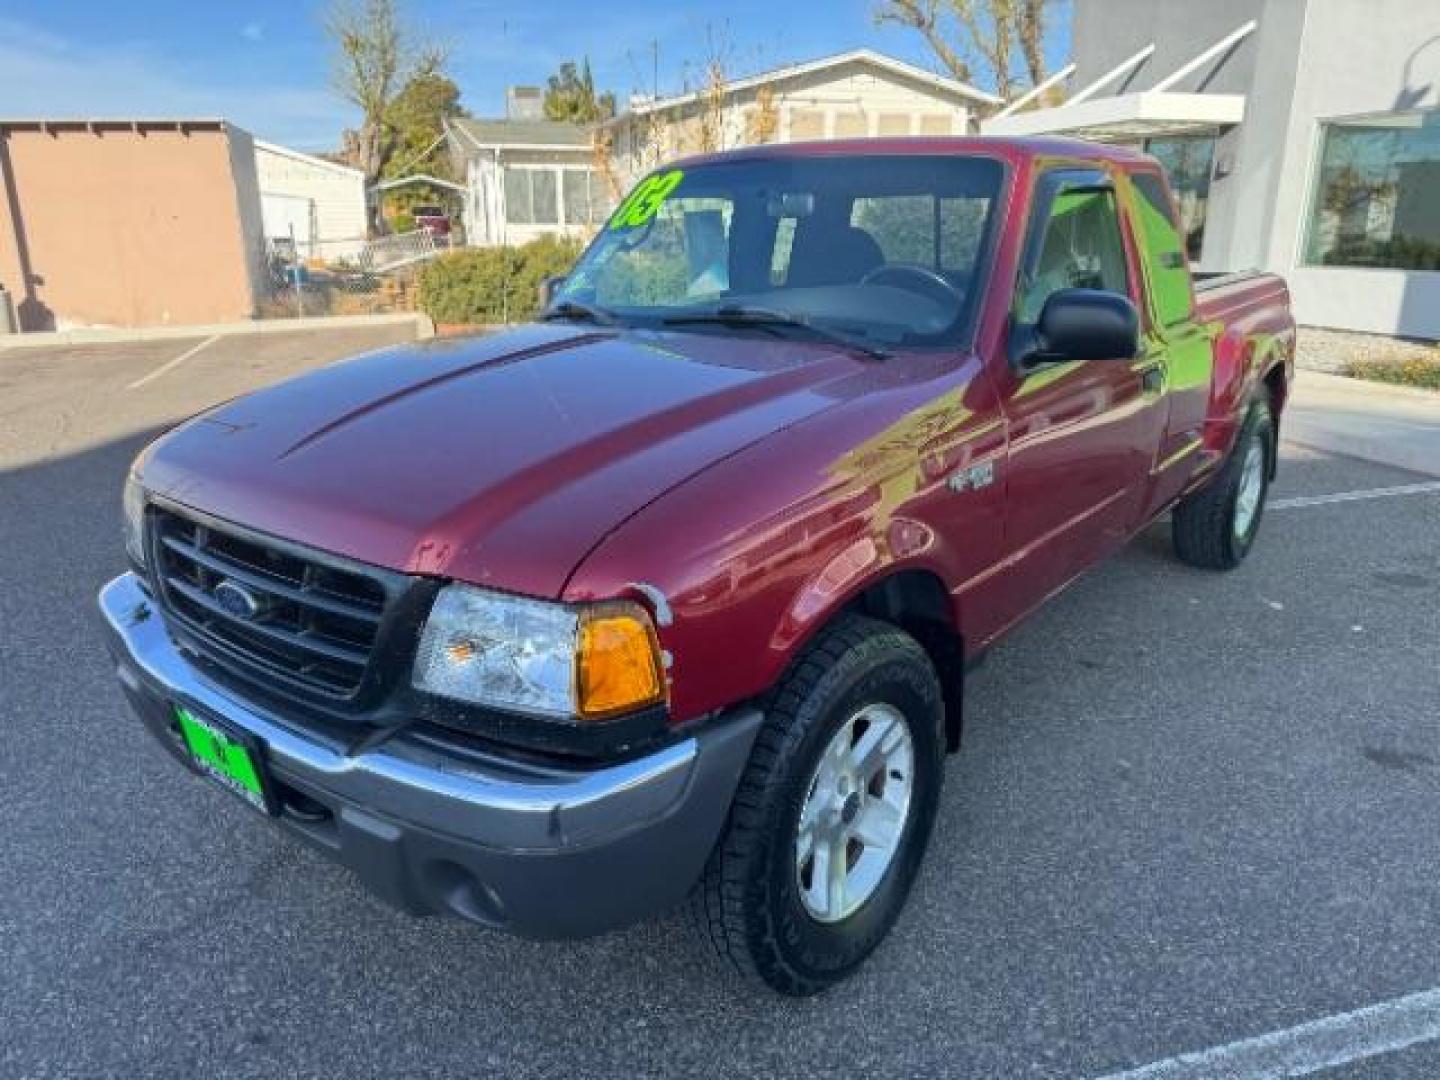
[(1440, 989), (1339, 1012), (1212, 1050), (1168, 1057), (1102, 1080), (1280, 1080), (1440, 1038)]

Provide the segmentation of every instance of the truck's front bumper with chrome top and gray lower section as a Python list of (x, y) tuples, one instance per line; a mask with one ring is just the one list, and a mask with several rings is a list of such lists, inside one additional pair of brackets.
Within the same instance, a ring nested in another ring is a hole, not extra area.
[(209, 681), (134, 575), (107, 585), (99, 606), (131, 706), (177, 759), (189, 763), (173, 706), (219, 716), (264, 743), (282, 796), (302, 796), (276, 818), (282, 828), (408, 912), (526, 936), (600, 933), (678, 901), (714, 845), (760, 720), (737, 713), (586, 772), (480, 766), (400, 739), (348, 753)]

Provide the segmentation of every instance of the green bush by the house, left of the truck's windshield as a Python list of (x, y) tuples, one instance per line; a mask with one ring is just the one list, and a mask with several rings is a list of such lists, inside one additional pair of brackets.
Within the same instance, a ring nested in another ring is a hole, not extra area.
[(540, 282), (569, 274), (579, 255), (579, 240), (556, 236), (441, 255), (420, 271), (420, 308), (436, 323), (523, 323), (540, 307)]

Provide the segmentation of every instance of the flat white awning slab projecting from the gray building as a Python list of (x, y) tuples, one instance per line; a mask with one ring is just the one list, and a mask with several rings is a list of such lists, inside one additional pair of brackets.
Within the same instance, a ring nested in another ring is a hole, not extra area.
[(1097, 143), (1129, 143), (1234, 127), (1246, 118), (1244, 94), (1142, 91), (1089, 98), (981, 122), (982, 135), (1070, 135)]

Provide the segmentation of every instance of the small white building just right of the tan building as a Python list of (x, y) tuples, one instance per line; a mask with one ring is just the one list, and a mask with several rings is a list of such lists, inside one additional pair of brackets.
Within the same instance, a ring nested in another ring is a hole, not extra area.
[(350, 258), (366, 235), (364, 174), (255, 140), (265, 239), (295, 238), (302, 256)]

